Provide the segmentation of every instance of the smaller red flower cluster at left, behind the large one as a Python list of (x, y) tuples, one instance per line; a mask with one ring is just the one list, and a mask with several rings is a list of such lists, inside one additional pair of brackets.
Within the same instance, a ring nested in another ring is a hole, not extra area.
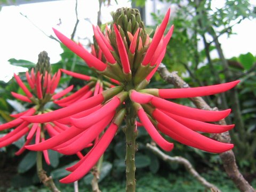
[[(25, 146), (29, 145), (30, 142), (32, 142), (33, 138), (35, 138), (36, 144), (39, 142), (43, 142), (45, 140), (45, 130), (51, 137), (54, 137), (60, 132), (68, 129), (67, 125), (61, 124), (59, 122), (31, 124), (21, 118), (21, 116), (25, 117), (48, 113), (49, 109), (44, 108), (47, 102), (55, 101), (63, 97), (73, 89), (73, 86), (69, 86), (67, 87), (67, 89), (57, 94), (54, 94), (54, 91), (60, 81), (61, 74), (60, 71), (58, 71), (58, 73), (55, 73), (53, 76), (51, 75), (51, 67), (46, 52), (41, 52), (39, 54), (38, 63), (35, 69), (33, 68), (30, 74), (28, 73), (28, 71), (26, 72), (27, 82), (31, 91), (29, 91), (26, 85), (21, 81), (21, 78), (18, 75), (14, 74), (15, 80), (17, 81), (18, 85), (21, 87), (25, 95), (12, 92), (14, 98), (31, 103), (32, 107), (26, 111), (23, 111), (22, 113), (11, 115), (15, 118), (13, 121), (0, 125), (0, 131), (15, 127), (13, 131), (7, 133), (4, 137), (0, 138), (0, 147), (10, 145), (11, 143), (20, 139), (23, 135), (27, 134), (24, 146), (20, 148), (17, 153), (15, 153), (15, 155), (22, 154), (23, 151), (26, 150)], [(47, 150), (44, 150), (43, 154), (46, 163), (50, 164)], [(81, 158), (83, 157), (83, 155), (80, 153), (78, 153), (78, 155)]]

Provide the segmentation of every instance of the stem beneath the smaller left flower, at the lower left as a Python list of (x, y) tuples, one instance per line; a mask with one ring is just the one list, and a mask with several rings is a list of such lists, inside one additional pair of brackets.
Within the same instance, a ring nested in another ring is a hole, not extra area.
[(43, 170), (43, 162), (42, 162), (42, 151), (37, 151), (36, 155), (36, 168), (37, 175), (41, 182), (44, 183), (46, 187), (48, 187), (52, 192), (60, 192), (59, 189), (55, 186), (52, 177), (47, 177), (46, 172)]

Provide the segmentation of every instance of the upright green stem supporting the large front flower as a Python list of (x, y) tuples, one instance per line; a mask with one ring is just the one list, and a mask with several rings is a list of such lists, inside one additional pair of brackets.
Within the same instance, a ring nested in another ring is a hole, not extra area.
[(127, 99), (126, 103), (126, 127), (125, 127), (125, 138), (126, 138), (126, 192), (135, 191), (135, 151), (137, 149), (135, 145), (137, 132), (135, 131), (135, 118), (136, 111), (132, 106), (131, 100)]

